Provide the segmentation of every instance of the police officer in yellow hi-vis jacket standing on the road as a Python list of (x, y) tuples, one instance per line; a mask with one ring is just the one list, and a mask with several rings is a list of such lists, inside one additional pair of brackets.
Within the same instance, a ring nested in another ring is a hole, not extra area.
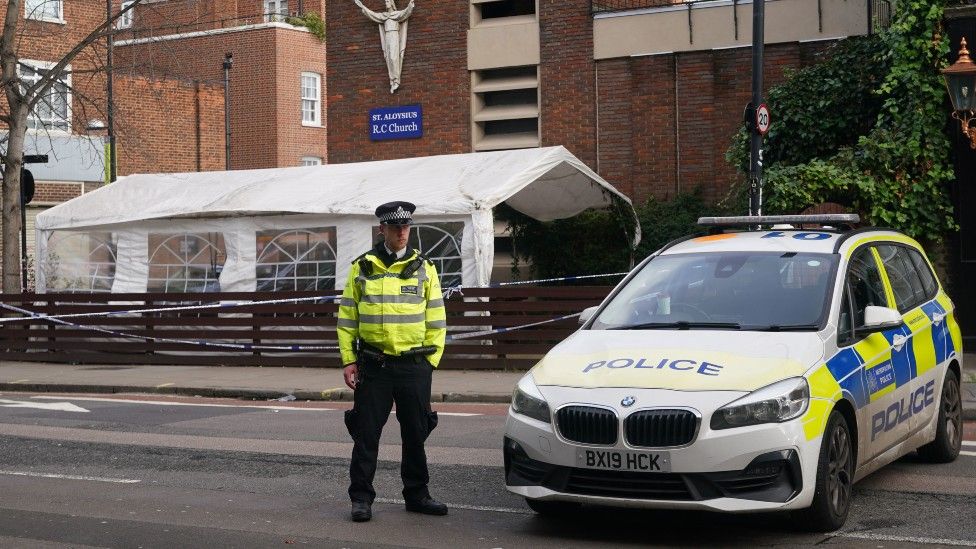
[(345, 421), (354, 442), (349, 497), (356, 522), (372, 518), (380, 433), (394, 402), (407, 511), (447, 514), (447, 506), (427, 491), (424, 453), (424, 441), (437, 425), (430, 383), (444, 352), (447, 320), (437, 270), (420, 252), (407, 248), (415, 209), (409, 202), (376, 208), (383, 240), (353, 261), (339, 303), (343, 375), (355, 391)]

